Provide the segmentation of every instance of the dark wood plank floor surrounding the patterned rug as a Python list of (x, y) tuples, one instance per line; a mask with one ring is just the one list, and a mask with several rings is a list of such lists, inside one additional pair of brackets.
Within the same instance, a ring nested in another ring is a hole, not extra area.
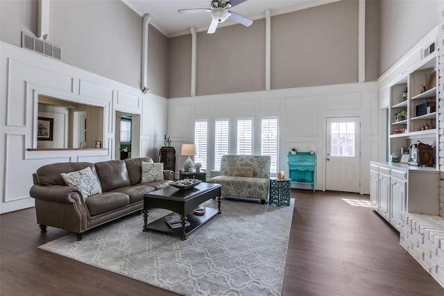
[[(444, 288), (399, 244), (369, 207), (368, 195), (291, 190), (296, 198), (282, 295), (444, 295)], [(176, 295), (37, 246), (66, 234), (40, 234), (34, 209), (0, 216), (0, 295)], [(87, 235), (87, 234), (85, 234)]]

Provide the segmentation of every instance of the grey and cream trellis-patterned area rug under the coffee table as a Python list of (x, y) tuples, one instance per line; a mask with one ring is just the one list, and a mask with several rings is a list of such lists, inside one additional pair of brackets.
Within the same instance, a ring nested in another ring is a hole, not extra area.
[[(92, 229), (83, 241), (68, 234), (40, 248), (182, 295), (281, 295), (293, 204), (223, 198), (222, 214), (186, 241), (142, 232), (140, 215)], [(148, 223), (170, 212), (152, 209)]]

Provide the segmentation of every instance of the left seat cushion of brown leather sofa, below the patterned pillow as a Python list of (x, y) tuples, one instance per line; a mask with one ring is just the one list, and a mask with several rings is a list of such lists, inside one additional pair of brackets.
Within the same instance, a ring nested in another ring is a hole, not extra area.
[(130, 204), (128, 195), (120, 192), (105, 192), (101, 194), (91, 195), (85, 198), (86, 205), (91, 216), (112, 211)]

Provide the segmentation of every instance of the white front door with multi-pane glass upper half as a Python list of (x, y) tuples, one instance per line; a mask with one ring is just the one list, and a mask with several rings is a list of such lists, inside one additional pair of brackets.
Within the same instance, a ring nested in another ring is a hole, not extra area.
[(359, 193), (359, 117), (327, 118), (325, 189)]

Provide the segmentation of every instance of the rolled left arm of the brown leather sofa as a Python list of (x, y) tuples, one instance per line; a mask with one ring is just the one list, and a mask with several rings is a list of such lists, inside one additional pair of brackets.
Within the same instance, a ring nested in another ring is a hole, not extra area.
[(82, 193), (72, 186), (33, 185), (29, 191), (29, 194), (32, 198), (37, 200), (46, 200), (47, 202), (73, 204), (76, 202), (76, 200), (83, 200)]

